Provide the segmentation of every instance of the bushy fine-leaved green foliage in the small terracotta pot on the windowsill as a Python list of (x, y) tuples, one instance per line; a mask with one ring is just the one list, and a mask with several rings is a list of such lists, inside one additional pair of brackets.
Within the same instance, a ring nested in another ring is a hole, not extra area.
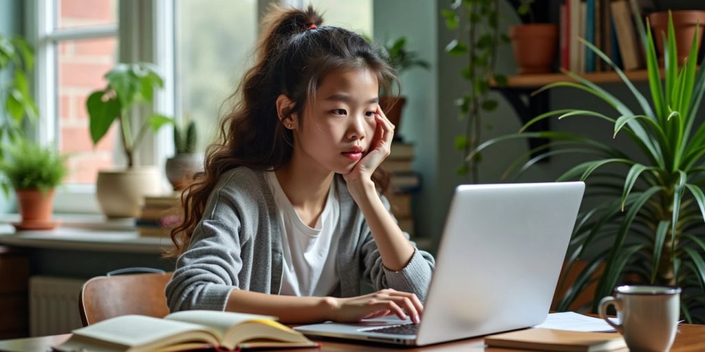
[[(14, 189), (39, 189), (50, 191), (61, 184), (68, 169), (66, 158), (54, 148), (45, 148), (20, 139), (8, 148), (8, 157), (0, 162), (0, 172), (6, 177)], [(5, 194), (8, 194), (7, 182), (2, 183)]]

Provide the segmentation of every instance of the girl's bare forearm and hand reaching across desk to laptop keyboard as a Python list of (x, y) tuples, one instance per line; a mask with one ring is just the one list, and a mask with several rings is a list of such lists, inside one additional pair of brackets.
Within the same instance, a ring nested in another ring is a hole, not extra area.
[(279, 296), (233, 289), (226, 305), (231, 312), (274, 315), (289, 324), (326, 320), (358, 322), (390, 314), (405, 319), (405, 311), (412, 322), (418, 323), (423, 309), (415, 294), (393, 289), (352, 298)]

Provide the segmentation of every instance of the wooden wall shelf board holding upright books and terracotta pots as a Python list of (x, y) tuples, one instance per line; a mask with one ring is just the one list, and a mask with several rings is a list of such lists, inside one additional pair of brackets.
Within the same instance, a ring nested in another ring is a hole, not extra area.
[[(649, 80), (649, 73), (646, 70), (626, 71), (625, 74), (632, 82), (642, 82)], [(622, 79), (614, 71), (584, 73), (582, 77), (594, 83), (617, 83)], [(572, 81), (573, 79), (563, 73), (543, 73), (538, 75), (515, 75), (507, 77), (508, 88), (539, 88), (546, 84), (561, 81)], [(492, 84), (496, 87), (496, 84)]]

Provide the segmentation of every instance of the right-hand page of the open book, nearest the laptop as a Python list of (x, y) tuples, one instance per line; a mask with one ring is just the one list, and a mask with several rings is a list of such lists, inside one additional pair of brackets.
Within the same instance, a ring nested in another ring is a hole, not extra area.
[(184, 310), (166, 315), (166, 320), (190, 322), (210, 327), (216, 337), (222, 341), (228, 329), (248, 320), (276, 320), (269, 315), (220, 312), (216, 310)]

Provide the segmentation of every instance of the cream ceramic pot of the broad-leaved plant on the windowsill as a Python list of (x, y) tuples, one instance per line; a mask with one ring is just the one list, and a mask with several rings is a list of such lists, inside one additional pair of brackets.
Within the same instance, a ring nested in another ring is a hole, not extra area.
[(156, 166), (98, 172), (96, 194), (100, 208), (109, 218), (139, 216), (145, 196), (164, 194), (160, 176)]

